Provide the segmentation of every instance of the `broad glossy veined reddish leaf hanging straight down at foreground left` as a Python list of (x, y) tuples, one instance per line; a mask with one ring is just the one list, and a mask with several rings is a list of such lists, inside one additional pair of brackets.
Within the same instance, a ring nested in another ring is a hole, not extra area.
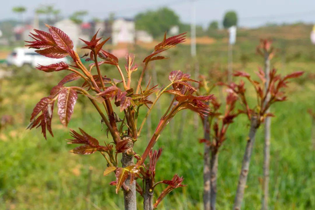
[(60, 91), (58, 96), (58, 115), (60, 122), (67, 127), (68, 122), (71, 119), (74, 105), (77, 101), (77, 92), (70, 89), (64, 88)]

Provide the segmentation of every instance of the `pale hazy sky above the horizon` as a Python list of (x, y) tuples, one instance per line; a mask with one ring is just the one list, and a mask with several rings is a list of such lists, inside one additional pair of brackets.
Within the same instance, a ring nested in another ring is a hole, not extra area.
[[(32, 17), (38, 5), (50, 4), (61, 9), (62, 16), (68, 16), (76, 10), (88, 10), (87, 20), (92, 17), (106, 18), (110, 12), (116, 16), (133, 17), (141, 11), (168, 6), (175, 10), (183, 22), (190, 22), (191, 2), (192, 0), (3, 0), (0, 20), (17, 18), (17, 14), (12, 12), (14, 6), (25, 6), (28, 11), (24, 16), (27, 18)], [(196, 0), (196, 21), (203, 26), (207, 26), (211, 20), (219, 20), (221, 23), (224, 13), (230, 9), (237, 11), (240, 26), (255, 27), (266, 22), (315, 23), (315, 0)]]

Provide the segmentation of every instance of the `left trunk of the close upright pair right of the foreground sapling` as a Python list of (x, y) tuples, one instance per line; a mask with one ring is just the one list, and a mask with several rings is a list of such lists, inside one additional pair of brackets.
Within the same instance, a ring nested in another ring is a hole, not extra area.
[[(204, 123), (204, 139), (210, 140), (209, 132), (209, 121), (208, 116), (205, 117)], [(203, 154), (203, 207), (204, 210), (210, 210), (210, 146), (204, 144), (204, 154)]]

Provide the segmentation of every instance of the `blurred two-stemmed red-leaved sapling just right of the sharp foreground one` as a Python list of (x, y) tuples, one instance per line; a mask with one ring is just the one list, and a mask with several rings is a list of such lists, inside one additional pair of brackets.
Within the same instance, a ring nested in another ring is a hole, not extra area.
[[(215, 210), (216, 203), (216, 193), (217, 193), (217, 176), (218, 176), (218, 157), (219, 148), (226, 139), (226, 131), (229, 125), (233, 122), (233, 119), (238, 116), (238, 113), (234, 113), (235, 103), (238, 97), (234, 93), (228, 93), (226, 96), (226, 104), (224, 113), (220, 113), (219, 109), (221, 104), (216, 100), (216, 98), (211, 99), (211, 104), (213, 105), (213, 111), (209, 113), (209, 117), (203, 120), (203, 129), (205, 138), (200, 139), (200, 143), (205, 143), (204, 159), (209, 156), (209, 151), (211, 151), (210, 164), (208, 166), (204, 165), (204, 209), (205, 210)], [(211, 126), (213, 124), (213, 133), (210, 132)], [(208, 151), (206, 151), (208, 149)], [(205, 161), (206, 163), (206, 161)], [(210, 174), (209, 174), (210, 173)], [(210, 178), (209, 178), (210, 175)], [(206, 181), (210, 181), (209, 183)]]

